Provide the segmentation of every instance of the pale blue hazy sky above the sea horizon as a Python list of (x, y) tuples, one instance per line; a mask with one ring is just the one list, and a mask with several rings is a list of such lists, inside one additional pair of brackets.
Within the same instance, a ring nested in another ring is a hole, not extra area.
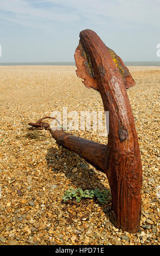
[(160, 0), (0, 0), (0, 62), (74, 62), (92, 29), (124, 61), (160, 61)]

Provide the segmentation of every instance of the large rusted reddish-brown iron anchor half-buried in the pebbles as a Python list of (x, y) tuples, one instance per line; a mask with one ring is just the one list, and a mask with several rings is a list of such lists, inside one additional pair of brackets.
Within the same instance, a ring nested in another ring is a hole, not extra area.
[(34, 126), (46, 126), (57, 143), (106, 173), (112, 193), (112, 222), (119, 229), (135, 233), (139, 229), (142, 204), (142, 163), (126, 93), (126, 88), (133, 86), (135, 81), (115, 54), (95, 32), (86, 29), (80, 33), (75, 51), (76, 74), (88, 88), (98, 90), (104, 110), (110, 112), (107, 145), (52, 130), (41, 123), (42, 119)]

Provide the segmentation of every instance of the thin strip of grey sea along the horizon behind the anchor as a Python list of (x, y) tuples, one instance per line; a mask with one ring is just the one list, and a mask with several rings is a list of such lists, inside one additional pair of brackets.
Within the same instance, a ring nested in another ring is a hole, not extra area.
[[(124, 62), (126, 66), (160, 66), (159, 62)], [(1, 63), (0, 66), (75, 66), (75, 62), (6, 62)]]

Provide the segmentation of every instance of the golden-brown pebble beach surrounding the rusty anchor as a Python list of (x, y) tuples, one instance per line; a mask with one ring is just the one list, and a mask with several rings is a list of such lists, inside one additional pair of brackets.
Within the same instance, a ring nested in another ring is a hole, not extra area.
[[(127, 90), (143, 166), (140, 229), (129, 234), (110, 222), (111, 200), (81, 202), (69, 188), (109, 190), (106, 175), (28, 123), (53, 111), (103, 111), (75, 66), (0, 66), (0, 245), (160, 245), (160, 67), (129, 66)], [(73, 135), (107, 143), (95, 131)]]

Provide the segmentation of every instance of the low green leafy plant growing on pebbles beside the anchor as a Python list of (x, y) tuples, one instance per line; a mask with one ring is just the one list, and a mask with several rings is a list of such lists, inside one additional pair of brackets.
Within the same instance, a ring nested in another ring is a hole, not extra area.
[(65, 191), (64, 196), (62, 197), (64, 202), (67, 202), (70, 199), (75, 198), (76, 202), (80, 202), (82, 198), (97, 198), (100, 203), (106, 203), (109, 200), (110, 192), (108, 190), (99, 191), (99, 188), (95, 190), (85, 190), (83, 191), (81, 188), (69, 188), (69, 190)]

